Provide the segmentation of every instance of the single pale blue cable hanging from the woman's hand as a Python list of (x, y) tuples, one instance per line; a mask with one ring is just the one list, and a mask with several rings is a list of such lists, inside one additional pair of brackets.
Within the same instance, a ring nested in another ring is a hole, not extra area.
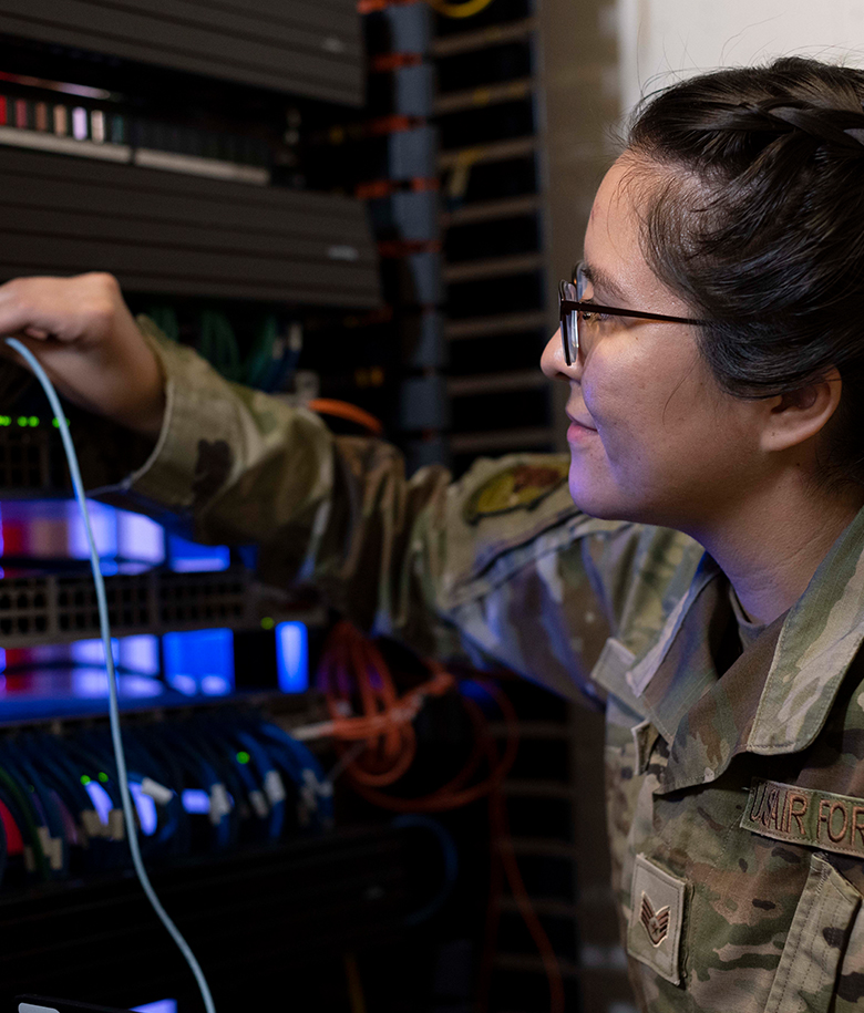
[(69, 435), (66, 416), (63, 412), (63, 409), (61, 407), (60, 400), (56, 396), (54, 385), (49, 380), (48, 374), (42, 369), (42, 364), (39, 362), (35, 355), (30, 351), (29, 348), (27, 348), (27, 345), (22, 344), (22, 342), (18, 341), (16, 338), (7, 338), (6, 343), (10, 348), (14, 349), (24, 359), (24, 361), (35, 374), (37, 380), (39, 380), (40, 384), (42, 385), (42, 390), (45, 392), (45, 396), (48, 397), (51, 410), (54, 413), (54, 417), (56, 418), (56, 424), (60, 430), (60, 437), (63, 441), (63, 449), (65, 451), (66, 459), (69, 461), (69, 472), (72, 476), (72, 486), (75, 490), (75, 499), (78, 499), (78, 504), (81, 507), (81, 516), (84, 521), (84, 531), (86, 533), (88, 545), (90, 546), (90, 564), (93, 570), (93, 581), (96, 586), (100, 632), (102, 634), (102, 644), (105, 649), (105, 666), (107, 669), (109, 676), (109, 719), (111, 723), (111, 738), (114, 745), (114, 759), (117, 765), (117, 775), (120, 781), (120, 796), (121, 802), (123, 803), (123, 818), (127, 828), (126, 837), (128, 839), (130, 851), (132, 852), (132, 864), (135, 867), (135, 875), (138, 878), (138, 882), (141, 883), (141, 887), (144, 890), (151, 907), (156, 912), (156, 916), (167, 930), (171, 938), (177, 944), (177, 949), (181, 951), (181, 953), (183, 953), (186, 963), (189, 965), (192, 973), (195, 975), (195, 981), (197, 982), (202, 1000), (204, 1001), (205, 1010), (207, 1013), (216, 1013), (216, 1006), (213, 1002), (213, 996), (210, 995), (207, 979), (204, 976), (204, 972), (202, 971), (198, 961), (195, 959), (195, 954), (192, 952), (189, 944), (181, 934), (179, 929), (171, 920), (167, 911), (162, 907), (162, 902), (151, 886), (147, 870), (144, 868), (144, 862), (141, 860), (141, 850), (138, 848), (138, 838), (135, 829), (134, 804), (132, 802), (132, 795), (128, 789), (126, 758), (123, 753), (123, 737), (120, 732), (117, 675), (114, 671), (114, 654), (111, 649), (111, 628), (109, 624), (107, 599), (105, 597), (105, 581), (102, 578), (102, 570), (99, 564), (99, 554), (96, 551), (96, 545), (93, 539), (93, 530), (90, 525), (90, 511), (88, 510), (86, 497), (84, 495), (84, 483), (81, 480), (81, 471), (78, 466), (75, 447), (72, 444), (72, 437)]

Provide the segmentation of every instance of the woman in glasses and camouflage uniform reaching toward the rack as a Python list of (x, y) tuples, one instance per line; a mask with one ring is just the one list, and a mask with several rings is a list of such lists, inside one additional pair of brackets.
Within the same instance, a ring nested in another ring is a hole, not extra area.
[(143, 340), (105, 276), (0, 288), (0, 332), (68, 396), (157, 437), (137, 506), (258, 539), (265, 579), (424, 652), (606, 699), (651, 1013), (864, 1002), (863, 100), (791, 59), (639, 112), (543, 355), (569, 495), (554, 456), (405, 482), (391, 447)]

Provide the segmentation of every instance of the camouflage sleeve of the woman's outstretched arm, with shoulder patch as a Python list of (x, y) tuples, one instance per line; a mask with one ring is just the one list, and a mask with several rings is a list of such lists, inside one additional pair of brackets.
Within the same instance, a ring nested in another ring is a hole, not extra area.
[(627, 614), (646, 529), (580, 514), (566, 457), (407, 478), (391, 445), (335, 437), (142, 325), (167, 407), (155, 449), (123, 483), (126, 506), (167, 509), (196, 540), (257, 542), (263, 581), (313, 588), (364, 629), (578, 695)]

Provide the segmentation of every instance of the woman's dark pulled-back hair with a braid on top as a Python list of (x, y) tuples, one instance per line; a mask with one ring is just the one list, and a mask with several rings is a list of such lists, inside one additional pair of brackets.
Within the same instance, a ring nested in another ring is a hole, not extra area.
[(864, 72), (802, 58), (644, 100), (628, 147), (667, 168), (644, 208), (659, 278), (706, 321), (700, 352), (741, 397), (836, 368), (822, 479), (864, 485)]

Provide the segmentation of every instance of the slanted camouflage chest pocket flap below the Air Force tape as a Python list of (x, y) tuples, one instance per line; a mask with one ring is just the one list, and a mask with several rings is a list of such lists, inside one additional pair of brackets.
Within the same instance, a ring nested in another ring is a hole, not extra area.
[(827, 1013), (860, 905), (852, 883), (813, 855), (764, 1013)]

